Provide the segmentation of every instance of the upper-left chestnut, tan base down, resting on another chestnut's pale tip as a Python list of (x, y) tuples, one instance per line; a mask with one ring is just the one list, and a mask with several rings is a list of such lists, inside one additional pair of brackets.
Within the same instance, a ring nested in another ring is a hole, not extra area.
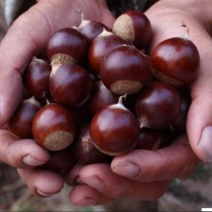
[(52, 65), (80, 63), (87, 54), (88, 41), (75, 28), (56, 31), (47, 42), (47, 57)]

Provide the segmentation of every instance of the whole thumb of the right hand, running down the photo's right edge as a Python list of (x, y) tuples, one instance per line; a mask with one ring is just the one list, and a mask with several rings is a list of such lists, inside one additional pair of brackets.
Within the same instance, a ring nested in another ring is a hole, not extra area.
[(205, 162), (212, 162), (212, 45), (201, 39), (199, 76), (192, 88), (192, 104), (187, 118), (188, 137), (193, 151)]

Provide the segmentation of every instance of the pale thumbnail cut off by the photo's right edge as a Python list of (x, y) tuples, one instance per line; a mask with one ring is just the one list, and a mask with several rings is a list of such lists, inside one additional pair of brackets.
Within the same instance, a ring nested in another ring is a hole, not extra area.
[(199, 147), (205, 153), (207, 162), (212, 162), (212, 127), (206, 127), (201, 135)]

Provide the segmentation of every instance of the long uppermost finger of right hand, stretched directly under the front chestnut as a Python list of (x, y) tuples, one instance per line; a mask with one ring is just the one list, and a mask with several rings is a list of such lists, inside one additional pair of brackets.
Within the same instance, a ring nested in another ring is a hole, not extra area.
[(134, 150), (116, 157), (111, 169), (140, 182), (185, 177), (194, 170), (198, 159), (184, 140), (185, 137), (181, 137), (171, 146), (156, 151)]

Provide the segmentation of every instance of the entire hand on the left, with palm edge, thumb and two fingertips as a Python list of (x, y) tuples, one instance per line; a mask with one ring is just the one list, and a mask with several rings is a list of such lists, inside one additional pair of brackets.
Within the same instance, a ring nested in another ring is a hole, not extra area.
[(63, 187), (60, 175), (32, 169), (49, 160), (48, 152), (32, 139), (14, 138), (3, 127), (22, 99), (25, 67), (33, 56), (45, 49), (51, 34), (80, 23), (81, 17), (76, 13), (79, 10), (85, 19), (103, 22), (108, 27), (113, 22), (103, 0), (40, 0), (13, 23), (0, 46), (0, 160), (22, 169), (19, 171), (24, 174), (20, 175), (26, 179), (32, 193), (38, 194), (39, 190), (42, 196), (56, 193)]

